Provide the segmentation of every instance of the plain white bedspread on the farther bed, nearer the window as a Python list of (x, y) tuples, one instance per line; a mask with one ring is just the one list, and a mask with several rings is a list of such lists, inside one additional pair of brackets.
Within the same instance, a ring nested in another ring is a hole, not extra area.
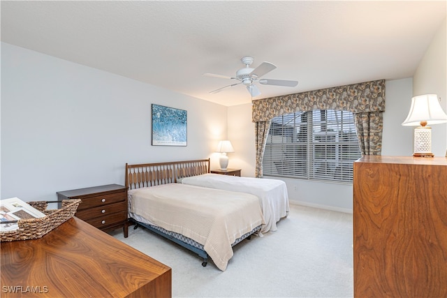
[(290, 210), (286, 183), (281, 180), (202, 174), (183, 178), (182, 184), (256, 195), (259, 198), (265, 220), (261, 232), (276, 231), (277, 222), (287, 216)]

